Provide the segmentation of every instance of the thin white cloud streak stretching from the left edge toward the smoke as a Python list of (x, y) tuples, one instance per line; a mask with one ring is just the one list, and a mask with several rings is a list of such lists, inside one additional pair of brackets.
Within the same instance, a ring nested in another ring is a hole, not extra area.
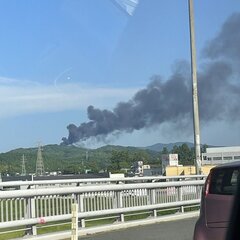
[(93, 88), (80, 84), (41, 85), (0, 77), (0, 118), (29, 113), (86, 109), (89, 105), (112, 108), (130, 99), (136, 88)]

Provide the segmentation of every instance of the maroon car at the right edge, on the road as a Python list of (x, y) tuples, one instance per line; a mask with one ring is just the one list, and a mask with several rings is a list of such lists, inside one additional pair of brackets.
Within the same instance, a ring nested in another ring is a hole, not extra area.
[(200, 216), (194, 240), (224, 240), (231, 224), (234, 196), (240, 176), (240, 161), (211, 169), (202, 190)]

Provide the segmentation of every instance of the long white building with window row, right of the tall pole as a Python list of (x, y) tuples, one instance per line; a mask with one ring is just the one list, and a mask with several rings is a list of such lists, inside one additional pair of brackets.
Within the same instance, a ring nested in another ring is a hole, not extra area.
[(202, 165), (218, 165), (240, 161), (240, 146), (207, 148), (202, 154)]

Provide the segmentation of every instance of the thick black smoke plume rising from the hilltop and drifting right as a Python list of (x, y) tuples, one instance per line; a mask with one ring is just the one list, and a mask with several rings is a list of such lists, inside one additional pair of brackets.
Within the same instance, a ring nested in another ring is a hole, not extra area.
[[(219, 34), (203, 50), (205, 64), (198, 72), (200, 119), (238, 120), (240, 114), (240, 13), (223, 24)], [(187, 66), (187, 68), (186, 68)], [(238, 67), (236, 67), (238, 66)], [(186, 71), (186, 69), (188, 69)], [(79, 127), (70, 124), (63, 144), (85, 141), (114, 132), (132, 132), (165, 122), (177, 124), (192, 119), (192, 87), (189, 65), (176, 64), (171, 77), (154, 76), (150, 84), (128, 102), (111, 110), (89, 106), (89, 121)]]

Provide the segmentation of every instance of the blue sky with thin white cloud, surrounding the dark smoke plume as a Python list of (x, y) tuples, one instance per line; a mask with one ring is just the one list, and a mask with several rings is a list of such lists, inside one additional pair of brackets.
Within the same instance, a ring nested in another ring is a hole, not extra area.
[[(240, 4), (195, 0), (194, 10), (200, 68), (205, 44)], [(88, 120), (89, 105), (111, 110), (153, 75), (167, 79), (176, 61), (190, 61), (187, 0), (139, 0), (132, 15), (114, 0), (0, 0), (0, 35), (0, 152), (58, 144), (68, 124)], [(239, 127), (209, 122), (202, 142), (240, 145)], [(177, 141), (193, 136), (167, 122), (108, 138), (134, 146)]]

